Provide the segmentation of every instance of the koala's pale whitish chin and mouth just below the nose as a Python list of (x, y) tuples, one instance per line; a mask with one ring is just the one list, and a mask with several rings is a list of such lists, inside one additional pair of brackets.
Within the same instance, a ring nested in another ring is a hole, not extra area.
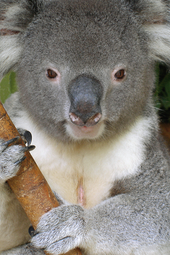
[(66, 124), (66, 131), (68, 135), (74, 140), (82, 139), (97, 139), (104, 133), (105, 124), (103, 121), (94, 126), (78, 126), (71, 122)]

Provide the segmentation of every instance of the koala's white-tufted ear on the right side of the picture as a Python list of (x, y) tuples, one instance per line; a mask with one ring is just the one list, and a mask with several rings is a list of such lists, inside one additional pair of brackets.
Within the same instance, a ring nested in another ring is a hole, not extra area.
[(127, 0), (148, 35), (150, 56), (170, 64), (170, 1)]

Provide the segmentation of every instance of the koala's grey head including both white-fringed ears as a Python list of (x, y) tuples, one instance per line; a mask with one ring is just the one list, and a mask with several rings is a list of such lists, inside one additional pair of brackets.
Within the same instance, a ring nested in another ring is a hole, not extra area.
[(0, 73), (17, 71), (23, 105), (57, 139), (110, 138), (146, 114), (167, 13), (161, 0), (1, 0)]

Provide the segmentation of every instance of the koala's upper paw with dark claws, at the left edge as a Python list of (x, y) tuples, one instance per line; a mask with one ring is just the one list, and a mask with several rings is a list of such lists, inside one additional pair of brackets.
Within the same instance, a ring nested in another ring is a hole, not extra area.
[[(28, 135), (27, 135), (28, 136)], [(29, 143), (30, 138), (25, 138)], [(0, 181), (5, 182), (14, 177), (19, 170), (20, 163), (25, 159), (25, 152), (33, 150), (35, 146), (23, 147), (15, 143), (19, 137), (9, 141), (0, 139)]]

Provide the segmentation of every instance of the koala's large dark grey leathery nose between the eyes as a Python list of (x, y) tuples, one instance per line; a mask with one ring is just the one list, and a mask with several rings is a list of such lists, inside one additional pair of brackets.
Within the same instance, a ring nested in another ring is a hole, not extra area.
[(93, 126), (102, 117), (103, 88), (93, 76), (82, 74), (69, 84), (70, 120), (79, 126)]

